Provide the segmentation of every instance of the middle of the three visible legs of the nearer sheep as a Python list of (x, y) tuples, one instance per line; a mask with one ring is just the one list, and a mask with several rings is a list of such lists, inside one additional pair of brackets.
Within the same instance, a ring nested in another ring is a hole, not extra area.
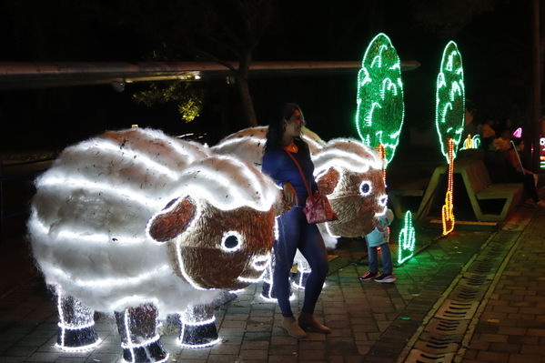
[(166, 362), (168, 353), (157, 334), (157, 309), (153, 305), (116, 311), (123, 358), (127, 362)]

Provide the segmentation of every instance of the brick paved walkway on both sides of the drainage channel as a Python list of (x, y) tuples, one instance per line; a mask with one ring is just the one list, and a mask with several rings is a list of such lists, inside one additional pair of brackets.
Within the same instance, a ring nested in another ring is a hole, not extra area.
[[(489, 297), (464, 362), (538, 362), (544, 357), (540, 353), (540, 347), (545, 345), (545, 314), (541, 314), (545, 310), (543, 221), (545, 212), (536, 211), (523, 232), (525, 242), (517, 247)], [(519, 226), (516, 219), (511, 224), (515, 229)], [(420, 243), (439, 234), (439, 229), (424, 229)], [(261, 285), (257, 284), (217, 309), (221, 344), (182, 349), (177, 347), (177, 332), (172, 330), (167, 330), (161, 340), (171, 353), (171, 361), (185, 363), (393, 363), (489, 236), (489, 231), (459, 228), (396, 268), (395, 284), (359, 282), (357, 277), (367, 270), (365, 265), (353, 263), (335, 271), (328, 276), (316, 311), (318, 318), (333, 328), (327, 337), (310, 334), (309, 338), (297, 340), (286, 336), (279, 327), (278, 307), (259, 297)], [(336, 253), (346, 260), (358, 261), (362, 251), (354, 248), (353, 243), (341, 244)], [(56, 307), (41, 277), (32, 274), (28, 258), (20, 254), (15, 258), (23, 266), (23, 270), (17, 270), (10, 267), (15, 262), (6, 260), (9, 256), (2, 257), (3, 273), (11, 271), (10, 281), (20, 279), (12, 287), (3, 286), (5, 291), (0, 294), (0, 362), (122, 361), (114, 320), (106, 315), (97, 318), (96, 328), (103, 342), (95, 350), (65, 353), (54, 348)], [(302, 292), (297, 291), (296, 295), (292, 305), (297, 313)]]

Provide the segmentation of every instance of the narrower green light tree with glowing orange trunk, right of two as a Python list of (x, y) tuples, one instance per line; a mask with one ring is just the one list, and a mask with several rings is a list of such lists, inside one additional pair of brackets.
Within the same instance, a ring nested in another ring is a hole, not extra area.
[(441, 209), (443, 234), (447, 236), (454, 229), (452, 212), (454, 159), (464, 128), (465, 116), (464, 71), (458, 46), (449, 42), (443, 51), (439, 75), (437, 77), (435, 125), (439, 135), (441, 153), (449, 163), (449, 179), (445, 204)]

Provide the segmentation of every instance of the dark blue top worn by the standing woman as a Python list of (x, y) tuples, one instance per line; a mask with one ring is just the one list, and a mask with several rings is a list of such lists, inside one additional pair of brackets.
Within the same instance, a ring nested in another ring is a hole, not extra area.
[[(303, 174), (307, 178), (307, 183), (310, 183), (310, 191), (314, 193), (318, 190), (318, 185), (316, 184), (316, 180), (314, 180), (314, 164), (312, 164), (312, 160), (310, 159), (308, 145), (300, 139), (296, 139), (295, 144), (298, 146), (298, 152), (291, 153), (291, 155), (298, 161)], [(303, 183), (298, 166), (295, 165), (284, 149), (280, 147), (268, 147), (263, 155), (261, 171), (267, 174), (267, 176), (272, 177), (279, 187), (282, 187), (282, 183), (289, 182), (295, 188), (298, 195), (299, 206), (305, 207), (305, 201), (308, 197), (307, 188)]]

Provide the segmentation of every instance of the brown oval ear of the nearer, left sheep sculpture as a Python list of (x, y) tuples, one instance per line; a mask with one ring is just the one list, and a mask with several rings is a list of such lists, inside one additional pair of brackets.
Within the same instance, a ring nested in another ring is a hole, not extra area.
[(157, 242), (167, 242), (182, 234), (196, 215), (197, 204), (191, 197), (176, 198), (149, 219), (147, 231)]

